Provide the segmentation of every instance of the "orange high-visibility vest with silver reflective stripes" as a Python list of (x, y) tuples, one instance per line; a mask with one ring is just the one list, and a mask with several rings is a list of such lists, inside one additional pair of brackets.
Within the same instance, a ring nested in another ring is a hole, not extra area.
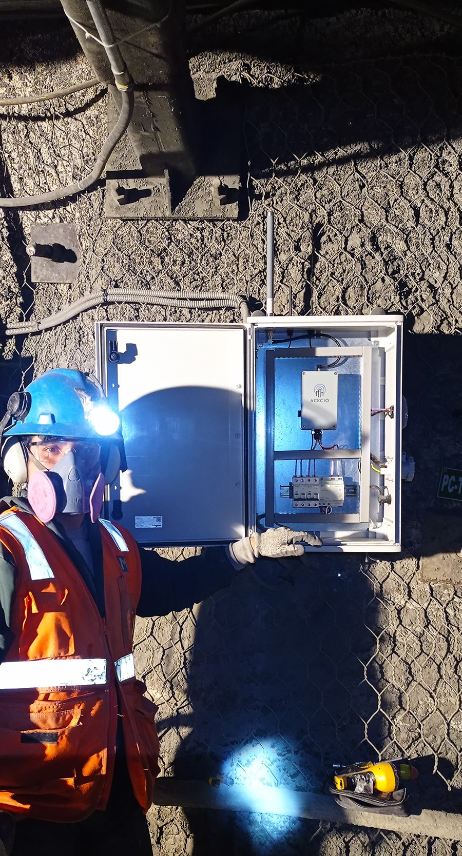
[(156, 706), (135, 680), (133, 628), (141, 590), (134, 538), (99, 521), (105, 620), (58, 538), (33, 514), (0, 514), (17, 568), (0, 663), (0, 808), (77, 821), (104, 809), (114, 769), (117, 698), (135, 797), (147, 811), (158, 772)]

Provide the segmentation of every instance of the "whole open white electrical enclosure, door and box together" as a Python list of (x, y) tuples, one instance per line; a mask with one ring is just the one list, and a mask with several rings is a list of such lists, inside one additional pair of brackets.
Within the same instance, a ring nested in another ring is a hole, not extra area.
[(291, 526), (321, 550), (399, 550), (402, 326), (100, 322), (97, 372), (127, 457), (106, 517), (146, 546)]

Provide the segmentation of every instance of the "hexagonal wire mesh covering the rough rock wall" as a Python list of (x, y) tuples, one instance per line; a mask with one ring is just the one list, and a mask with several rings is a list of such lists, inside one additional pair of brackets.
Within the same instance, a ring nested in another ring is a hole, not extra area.
[[(358, 45), (371, 19), (355, 14)], [(448, 49), (447, 27), (429, 22), (416, 34), (410, 19), (399, 12), (382, 16), (388, 34), (382, 53), (346, 50), (312, 67), (306, 59), (297, 68), (260, 60), (226, 44), (213, 51), (199, 46), (190, 63), (199, 94), (213, 92), (219, 75), (245, 89), (248, 217), (238, 223), (105, 220), (102, 187), (41, 211), (4, 211), (3, 322), (44, 318), (115, 284), (178, 294), (223, 288), (247, 295), (255, 308), (264, 300), (265, 212), (271, 208), (277, 314), (355, 314), (381, 306), (403, 312), (415, 334), (459, 332), (461, 61)], [(258, 13), (245, 18), (254, 36), (259, 21), (274, 27), (281, 20)], [(337, 36), (342, 26), (350, 32), (352, 20), (337, 24)], [(407, 39), (405, 50), (401, 43), (392, 50), (393, 21)], [(226, 26), (218, 28), (221, 36)], [(291, 27), (293, 39), (302, 25), (292, 16)], [(313, 27), (321, 32), (319, 21)], [(5, 97), (90, 76), (66, 29), (58, 47), (51, 32), (25, 31), (21, 50), (13, 31), (6, 37)], [(85, 174), (104, 137), (106, 107), (105, 91), (95, 89), (4, 109), (2, 192), (38, 193)], [(25, 253), (30, 227), (59, 220), (77, 226), (83, 259), (77, 280), (33, 285)], [(93, 324), (106, 318), (232, 321), (236, 315), (101, 306), (40, 335), (3, 337), (9, 391), (30, 380), (32, 370), (93, 370)], [(428, 419), (431, 428), (425, 405), (418, 407), (419, 425)], [(416, 437), (422, 451), (426, 439), (418, 430)], [(431, 442), (440, 455), (437, 431)], [(422, 490), (411, 494), (415, 507), (405, 507), (412, 553)], [(194, 552), (167, 555), (181, 561)], [(138, 621), (135, 657), (159, 704), (161, 773), (237, 783), (256, 776), (267, 785), (319, 791), (330, 764), (420, 756), (418, 798), (426, 807), (459, 811), (462, 601), (457, 588), (423, 584), (412, 553), (393, 562), (316, 556), (309, 570), (261, 562), (258, 578), (240, 574), (229, 591), (193, 609)], [(162, 856), (460, 851), (459, 842), (436, 837), (251, 812), (153, 808), (149, 822), (153, 851)]]

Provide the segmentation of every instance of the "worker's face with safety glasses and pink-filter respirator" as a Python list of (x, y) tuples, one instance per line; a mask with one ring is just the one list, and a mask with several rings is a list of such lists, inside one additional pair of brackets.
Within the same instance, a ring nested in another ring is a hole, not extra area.
[(98, 520), (105, 492), (98, 443), (77, 441), (58, 460), (60, 443), (31, 446), (39, 447), (38, 455), (29, 452), (38, 472), (28, 480), (27, 499), (39, 520), (49, 523), (55, 514), (88, 513), (92, 523)]

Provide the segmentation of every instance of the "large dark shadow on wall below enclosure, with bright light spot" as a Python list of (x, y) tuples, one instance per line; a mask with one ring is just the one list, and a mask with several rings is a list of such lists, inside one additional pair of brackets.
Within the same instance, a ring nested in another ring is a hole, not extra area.
[[(373, 643), (364, 627), (370, 588), (356, 556), (261, 560), (229, 593), (201, 606), (188, 675), (195, 729), (175, 776), (211, 776), (248, 789), (249, 813), (185, 810), (195, 856), (307, 853), (318, 823), (252, 812), (261, 785), (322, 790), (332, 764), (371, 753), (364, 720), (377, 695), (364, 681)], [(383, 740), (376, 716), (370, 740)], [(315, 847), (315, 845), (313, 845)]]

